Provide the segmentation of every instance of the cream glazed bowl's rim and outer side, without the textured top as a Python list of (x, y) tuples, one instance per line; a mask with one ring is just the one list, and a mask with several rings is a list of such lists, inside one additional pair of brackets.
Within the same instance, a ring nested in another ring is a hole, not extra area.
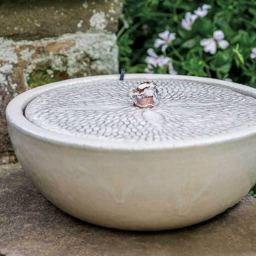
[[(239, 131), (201, 139), (114, 143), (48, 131), (24, 116), (27, 105), (43, 93), (102, 79), (118, 80), (119, 75), (37, 87), (18, 95), (6, 109), (21, 166), (57, 207), (104, 227), (168, 230), (224, 212), (256, 183), (256, 120)], [(125, 79), (196, 81), (256, 97), (256, 89), (217, 79), (151, 74)]]

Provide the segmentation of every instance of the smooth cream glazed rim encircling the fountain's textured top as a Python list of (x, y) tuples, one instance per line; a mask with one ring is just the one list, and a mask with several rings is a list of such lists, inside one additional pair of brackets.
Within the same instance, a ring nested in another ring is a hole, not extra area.
[[(9, 130), (12, 128), (17, 129), (22, 134), (26, 134), (29, 137), (37, 138), (47, 143), (53, 143), (57, 145), (67, 147), (78, 148), (92, 148), (99, 150), (166, 150), (175, 148), (191, 148), (205, 145), (213, 145), (218, 143), (225, 143), (234, 140), (241, 140), (246, 137), (256, 135), (256, 125), (251, 126), (243, 130), (231, 132), (228, 134), (221, 134), (201, 139), (191, 140), (174, 140), (166, 142), (113, 142), (108, 140), (93, 140), (75, 136), (68, 136), (65, 134), (59, 134), (54, 131), (49, 131), (41, 128), (38, 125), (33, 124), (24, 116), (26, 106), (32, 102), (39, 95), (46, 93), (50, 90), (55, 90), (63, 85), (70, 85), (74, 83), (101, 81), (101, 80), (119, 80), (120, 75), (102, 75), (102, 76), (87, 76), (76, 79), (67, 79), (64, 81), (58, 81), (55, 83), (46, 84), (40, 87), (27, 90), (16, 96), (6, 108), (6, 118), (9, 125)], [(125, 79), (172, 79), (178, 81), (193, 81), (199, 83), (207, 83), (217, 87), (224, 87), (231, 89), (237, 93), (241, 93), (246, 96), (250, 96), (256, 99), (256, 89), (248, 87), (243, 84), (237, 84), (229, 81), (222, 81), (219, 79), (196, 77), (196, 76), (182, 76), (182, 75), (163, 75), (163, 74), (125, 74)]]

